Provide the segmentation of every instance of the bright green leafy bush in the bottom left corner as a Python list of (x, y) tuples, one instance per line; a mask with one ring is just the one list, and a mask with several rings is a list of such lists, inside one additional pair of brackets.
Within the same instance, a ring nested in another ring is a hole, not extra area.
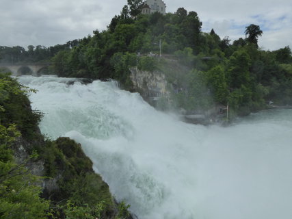
[(14, 162), (12, 144), (18, 136), (16, 125), (0, 125), (0, 218), (47, 218), (49, 201), (40, 198), (42, 188), (36, 185), (40, 178)]

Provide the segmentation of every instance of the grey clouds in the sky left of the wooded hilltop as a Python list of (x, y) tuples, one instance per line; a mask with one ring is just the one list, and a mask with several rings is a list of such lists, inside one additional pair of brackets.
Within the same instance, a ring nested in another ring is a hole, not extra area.
[(94, 0), (1, 0), (0, 5), (0, 45), (7, 46), (51, 46), (83, 38), (102, 28), (98, 18), (107, 16)]

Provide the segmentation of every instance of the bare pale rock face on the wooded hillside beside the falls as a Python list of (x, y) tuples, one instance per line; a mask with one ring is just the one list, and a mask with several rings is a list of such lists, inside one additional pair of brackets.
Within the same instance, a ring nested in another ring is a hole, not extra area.
[(157, 70), (149, 72), (137, 68), (130, 68), (130, 71), (134, 89), (150, 105), (155, 105), (162, 96), (167, 99), (170, 97), (171, 85), (167, 82), (163, 73)]

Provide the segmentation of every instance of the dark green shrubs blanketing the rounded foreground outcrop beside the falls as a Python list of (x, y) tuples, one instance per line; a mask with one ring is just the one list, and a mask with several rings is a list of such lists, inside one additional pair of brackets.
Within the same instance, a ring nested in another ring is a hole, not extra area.
[[(45, 175), (59, 178), (57, 188), (44, 190), (43, 194), (49, 197), (55, 218), (119, 218), (121, 212), (116, 211), (108, 185), (94, 173), (80, 144), (58, 138), (53, 142), (47, 140), (36, 150), (45, 161)], [(125, 206), (123, 211), (129, 214)]]

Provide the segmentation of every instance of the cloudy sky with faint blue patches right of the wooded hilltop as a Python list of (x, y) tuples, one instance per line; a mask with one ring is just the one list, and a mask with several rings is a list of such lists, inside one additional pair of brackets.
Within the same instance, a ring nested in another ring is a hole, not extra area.
[[(173, 0), (168, 3), (168, 10), (175, 12), (181, 1)], [(263, 39), (259, 40), (265, 49), (279, 49), (290, 45), (289, 29), (292, 29), (292, 2), (291, 0), (222, 0), (183, 2), (183, 8), (198, 13), (203, 23), (203, 30), (211, 28), (220, 37), (229, 36), (232, 40), (244, 36), (245, 27), (254, 23), (265, 28)], [(284, 20), (279, 18), (284, 16)], [(291, 35), (290, 35), (291, 36)]]

